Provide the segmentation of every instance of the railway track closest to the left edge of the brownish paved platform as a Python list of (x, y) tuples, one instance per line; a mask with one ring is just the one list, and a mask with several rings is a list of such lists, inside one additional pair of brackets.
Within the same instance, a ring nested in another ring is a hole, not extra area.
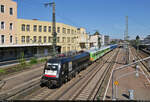
[[(105, 62), (103, 63), (103, 65), (98, 66), (98, 67), (100, 67), (99, 70), (93, 74), (94, 76), (89, 79), (88, 83), (86, 83), (85, 86), (75, 95), (73, 100), (95, 100), (95, 99), (97, 99), (99, 91), (102, 89), (104, 80), (105, 80), (106, 76), (108, 75), (108, 72), (112, 65), (112, 60), (114, 60), (116, 55), (117, 55), (117, 53), (115, 55), (113, 55), (112, 59), (109, 57), (109, 59), (108, 59), (109, 61), (106, 61), (106, 63), (110, 63), (110, 64), (108, 64), (105, 69), (103, 69), (103, 67), (106, 64)], [(99, 73), (102, 73), (102, 74), (99, 74)], [(94, 79), (97, 79), (97, 80), (94, 80)], [(91, 88), (91, 86), (93, 88)]]

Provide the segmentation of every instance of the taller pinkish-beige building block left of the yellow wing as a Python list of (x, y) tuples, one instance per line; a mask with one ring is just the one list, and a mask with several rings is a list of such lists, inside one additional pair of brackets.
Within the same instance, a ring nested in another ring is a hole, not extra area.
[(17, 3), (0, 0), (0, 45), (15, 44), (17, 23)]

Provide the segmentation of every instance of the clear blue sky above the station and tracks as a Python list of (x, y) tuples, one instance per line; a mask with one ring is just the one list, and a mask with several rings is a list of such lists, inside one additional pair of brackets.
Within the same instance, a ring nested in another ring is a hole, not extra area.
[[(14, 0), (18, 18), (52, 21), (54, 0)], [(110, 38), (123, 39), (128, 16), (128, 35), (134, 39), (150, 34), (150, 0), (55, 0), (56, 22), (83, 27), (90, 34), (99, 31)]]

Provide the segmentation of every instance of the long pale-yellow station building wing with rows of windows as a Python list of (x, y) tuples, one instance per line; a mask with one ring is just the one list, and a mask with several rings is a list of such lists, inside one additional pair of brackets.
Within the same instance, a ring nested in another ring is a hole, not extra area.
[[(61, 53), (81, 50), (80, 37), (86, 36), (84, 28), (56, 23), (57, 46)], [(52, 23), (39, 20), (17, 19), (17, 38), (20, 45), (52, 45)]]

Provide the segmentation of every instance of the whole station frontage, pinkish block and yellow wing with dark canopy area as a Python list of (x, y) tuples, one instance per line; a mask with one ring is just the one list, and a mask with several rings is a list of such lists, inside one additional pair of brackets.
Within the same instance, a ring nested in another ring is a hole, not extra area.
[[(84, 28), (56, 23), (59, 53), (87, 49)], [(0, 61), (49, 56), (52, 52), (52, 22), (17, 18), (17, 3), (0, 0)]]

